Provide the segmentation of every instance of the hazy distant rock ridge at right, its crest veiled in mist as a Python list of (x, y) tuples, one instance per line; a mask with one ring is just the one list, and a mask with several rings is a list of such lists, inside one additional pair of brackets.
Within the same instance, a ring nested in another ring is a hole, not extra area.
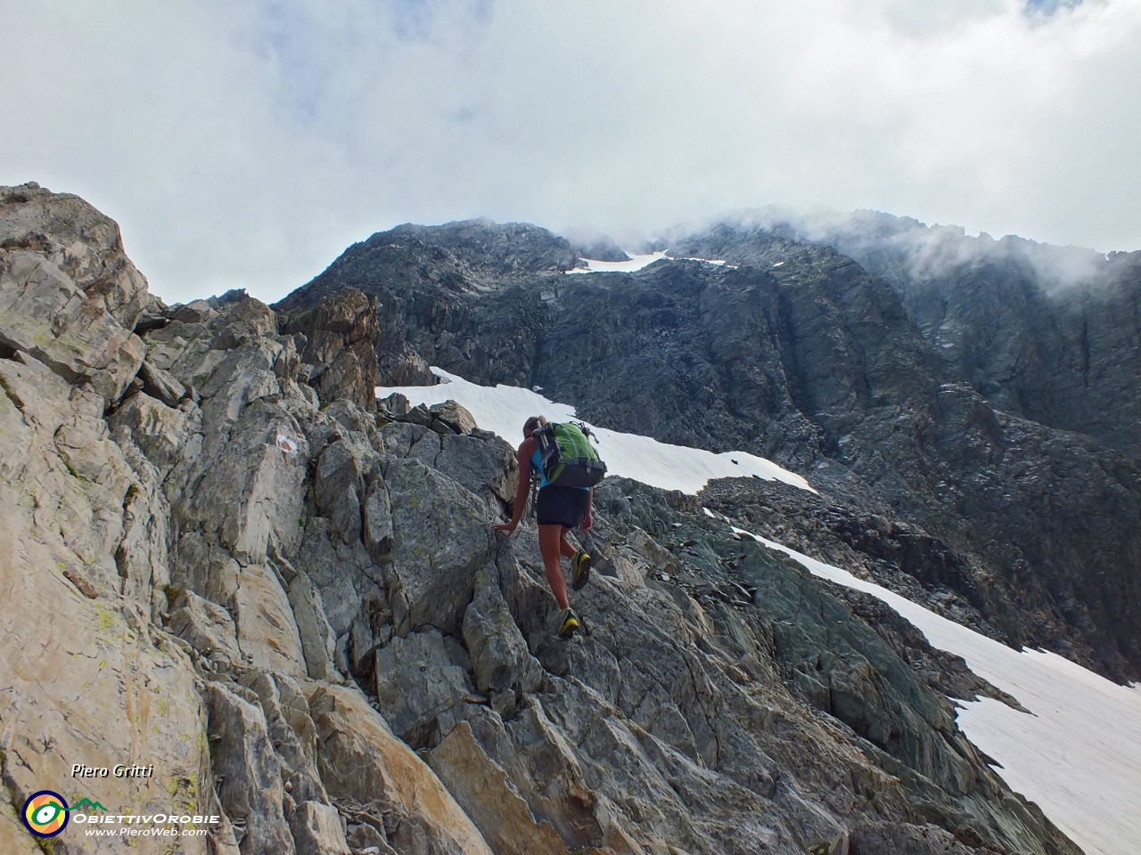
[(1141, 253), (966, 237), (871, 211), (815, 237), (889, 282), (996, 409), (1136, 451)]

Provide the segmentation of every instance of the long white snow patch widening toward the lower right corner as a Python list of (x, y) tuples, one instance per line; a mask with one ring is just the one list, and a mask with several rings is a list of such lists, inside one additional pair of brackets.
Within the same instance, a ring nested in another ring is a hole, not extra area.
[(1086, 855), (1135, 852), (1141, 836), (1141, 691), (1119, 686), (1055, 653), (1017, 651), (928, 611), (911, 600), (744, 529), (814, 576), (884, 601), (932, 646), (963, 657), (971, 670), (1033, 715), (982, 698), (961, 702), (958, 726), (993, 757), (1011, 789)]

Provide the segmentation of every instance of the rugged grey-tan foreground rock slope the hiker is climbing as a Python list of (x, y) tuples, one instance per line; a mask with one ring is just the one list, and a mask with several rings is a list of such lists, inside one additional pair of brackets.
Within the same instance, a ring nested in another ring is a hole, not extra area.
[[(491, 529), (511, 448), (362, 396), (394, 364), (366, 295), (167, 307), (34, 185), (0, 229), (16, 813), (114, 758), (155, 777), (83, 795), (224, 817), (185, 853), (1078, 852), (955, 726), (942, 692), (985, 685), (691, 497), (599, 490), (589, 632), (557, 640), (533, 532)], [(37, 850), (7, 807), (0, 845)]]

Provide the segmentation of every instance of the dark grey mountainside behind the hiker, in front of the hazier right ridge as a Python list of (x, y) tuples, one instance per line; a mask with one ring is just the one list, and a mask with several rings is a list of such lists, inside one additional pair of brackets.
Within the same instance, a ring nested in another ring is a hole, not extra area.
[[(678, 235), (671, 252), (682, 260), (589, 277), (560, 276), (537, 261), (529, 272), (513, 267), (497, 276), (485, 254), (451, 261), (469, 251), (454, 227), (415, 234), (419, 267), (393, 254), (393, 233), (375, 235), (280, 308), (296, 317), (351, 285), (381, 306), (385, 382), (406, 376), (393, 360), (406, 360), (411, 349), (424, 366), (474, 382), (541, 386), (597, 424), (793, 465), (845, 515), (900, 523), (879, 540), (853, 528), (844, 535), (869, 551), (869, 572), (881, 581), (923, 601), (949, 597), (947, 613), (1011, 644), (1046, 646), (1118, 679), (1141, 675), (1141, 458), (1128, 450), (1133, 440), (1114, 429), (1120, 441), (1107, 445), (1109, 427), (1090, 421), (1100, 416), (1066, 421), (985, 398), (989, 386), (941, 344), (952, 326), (970, 337), (965, 318), (932, 333), (895, 280), (830, 246), (763, 229)], [(448, 261), (432, 261), (429, 246)], [(1094, 367), (1035, 374), (1039, 385), (1069, 377), (1054, 398), (1068, 396), (1067, 383), (1092, 384), (1074, 399), (1085, 401), (1075, 412), (1138, 398), (1132, 262), (1104, 263), (1120, 274), (1117, 290), (1106, 291), (1118, 296), (1097, 311), (1093, 298), (1082, 303), (1087, 328), (1104, 331), (1091, 344)], [(974, 304), (968, 292), (956, 299)], [(989, 299), (1004, 308), (988, 324), (1002, 326), (1019, 311), (1002, 293)], [(1110, 314), (1122, 323), (1112, 326)], [(1071, 351), (1063, 361), (1076, 358)], [(986, 370), (1002, 373), (1005, 364), (992, 359)], [(1038, 394), (1026, 388), (1027, 400)], [(1120, 410), (1125, 422), (1133, 406)], [(795, 538), (814, 531), (795, 516), (787, 528)]]

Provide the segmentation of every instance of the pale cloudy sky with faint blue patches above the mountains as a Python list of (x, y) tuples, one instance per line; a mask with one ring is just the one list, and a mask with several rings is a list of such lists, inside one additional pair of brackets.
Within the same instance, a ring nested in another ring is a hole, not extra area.
[(0, 0), (0, 184), (168, 301), (399, 222), (770, 203), (1141, 249), (1141, 0)]

